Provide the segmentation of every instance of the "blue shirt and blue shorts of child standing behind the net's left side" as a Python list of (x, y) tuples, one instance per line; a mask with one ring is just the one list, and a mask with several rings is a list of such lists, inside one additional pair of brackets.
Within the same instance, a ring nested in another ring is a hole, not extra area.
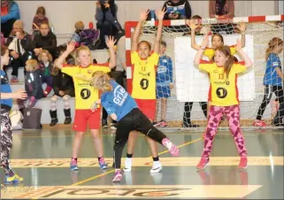
[(173, 61), (168, 56), (158, 60), (156, 76), (156, 97), (168, 98), (171, 96), (170, 84), (173, 83)]

